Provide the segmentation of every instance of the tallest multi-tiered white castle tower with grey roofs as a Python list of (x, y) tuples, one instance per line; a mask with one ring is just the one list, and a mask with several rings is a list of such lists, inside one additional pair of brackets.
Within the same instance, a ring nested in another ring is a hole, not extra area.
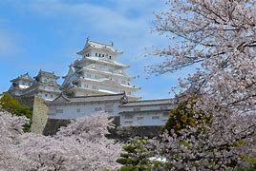
[(111, 45), (87, 39), (84, 48), (77, 52), (81, 56), (70, 65), (68, 74), (63, 77), (64, 93), (71, 96), (118, 94), (125, 91), (127, 97), (138, 100), (133, 93), (139, 87), (131, 84), (134, 77), (125, 73), (129, 66), (117, 63), (122, 51)]

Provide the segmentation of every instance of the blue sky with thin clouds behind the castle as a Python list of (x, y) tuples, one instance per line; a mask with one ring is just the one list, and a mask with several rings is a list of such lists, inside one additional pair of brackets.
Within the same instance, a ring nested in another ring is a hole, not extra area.
[(160, 0), (1, 0), (0, 92), (26, 72), (35, 76), (42, 69), (65, 76), (89, 37), (113, 42), (123, 51), (118, 62), (129, 65), (127, 73), (136, 76), (133, 84), (141, 87), (137, 96), (170, 98), (170, 88), (187, 72), (155, 76), (144, 71), (144, 66), (160, 63), (159, 57), (146, 55), (150, 49), (171, 44), (151, 31), (154, 12), (166, 9)]

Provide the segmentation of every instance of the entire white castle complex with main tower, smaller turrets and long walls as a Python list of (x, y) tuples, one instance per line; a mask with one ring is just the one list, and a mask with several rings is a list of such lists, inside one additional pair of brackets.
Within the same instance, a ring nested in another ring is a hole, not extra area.
[(139, 100), (134, 93), (140, 88), (132, 85), (134, 77), (125, 73), (129, 66), (116, 61), (122, 51), (113, 44), (87, 39), (77, 54), (80, 58), (69, 66), (61, 86), (52, 72), (40, 70), (34, 79), (27, 73), (11, 80), (8, 92), (45, 99), (50, 119), (75, 119), (105, 111), (119, 119), (119, 126), (166, 123), (168, 113), (176, 106), (174, 100)]

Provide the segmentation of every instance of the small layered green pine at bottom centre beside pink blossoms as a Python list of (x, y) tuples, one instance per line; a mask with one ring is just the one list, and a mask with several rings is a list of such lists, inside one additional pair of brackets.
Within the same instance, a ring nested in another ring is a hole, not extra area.
[(120, 171), (144, 171), (151, 170), (152, 163), (149, 158), (153, 156), (144, 145), (146, 140), (134, 140), (123, 145), (124, 153), (117, 159), (118, 163), (123, 164)]

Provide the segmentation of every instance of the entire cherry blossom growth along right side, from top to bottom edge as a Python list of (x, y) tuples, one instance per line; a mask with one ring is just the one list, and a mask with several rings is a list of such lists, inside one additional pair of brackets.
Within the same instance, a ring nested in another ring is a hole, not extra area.
[[(256, 148), (256, 1), (169, 0), (166, 4), (168, 10), (156, 15), (154, 30), (168, 37), (170, 45), (154, 50), (165, 61), (149, 66), (149, 71), (163, 74), (198, 66), (180, 85), (183, 94), (198, 97), (196, 106), (213, 119), (197, 137), (191, 135), (198, 127), (182, 130), (181, 137), (175, 132), (164, 134), (156, 152), (165, 151), (176, 169), (244, 167), (243, 157), (255, 158), (251, 149)], [(187, 146), (181, 142), (188, 142)]]

